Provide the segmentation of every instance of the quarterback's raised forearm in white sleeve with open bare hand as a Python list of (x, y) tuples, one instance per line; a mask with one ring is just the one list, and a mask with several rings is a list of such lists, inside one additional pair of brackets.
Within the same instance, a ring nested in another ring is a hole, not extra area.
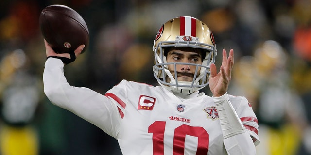
[(219, 115), (224, 135), (224, 145), (229, 155), (256, 155), (256, 148), (248, 132), (246, 132), (239, 116), (233, 108), (227, 94), (234, 64), (233, 49), (227, 57), (223, 49), (223, 62), (217, 73), (215, 64), (210, 67), (209, 87)]

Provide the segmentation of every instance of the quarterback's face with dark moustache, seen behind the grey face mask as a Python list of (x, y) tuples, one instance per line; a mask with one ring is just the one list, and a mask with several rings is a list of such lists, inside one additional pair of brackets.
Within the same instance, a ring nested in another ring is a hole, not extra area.
[[(190, 47), (173, 47), (168, 51), (167, 62), (202, 64), (201, 50)], [(174, 65), (171, 64), (168, 65), (168, 67), (173, 77), (175, 77)], [(177, 64), (177, 80), (191, 82), (194, 78), (195, 69), (195, 65)], [(199, 71), (200, 68), (198, 69), (198, 72)]]

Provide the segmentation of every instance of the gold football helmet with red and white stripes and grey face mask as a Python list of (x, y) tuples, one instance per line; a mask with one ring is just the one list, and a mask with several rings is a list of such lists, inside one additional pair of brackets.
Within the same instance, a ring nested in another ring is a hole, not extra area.
[[(202, 65), (186, 63), (196, 66), (197, 72), (192, 82), (178, 81), (177, 75), (173, 76), (170, 73), (168, 64), (173, 64), (176, 68), (176, 65), (185, 63), (167, 63), (164, 54), (165, 47), (200, 48), (206, 52), (202, 54), (205, 55), (202, 58)], [(190, 94), (208, 85), (210, 64), (215, 62), (217, 50), (212, 32), (202, 21), (190, 16), (180, 16), (167, 21), (155, 36), (153, 51), (155, 54), (154, 77), (161, 86), (176, 93)]]

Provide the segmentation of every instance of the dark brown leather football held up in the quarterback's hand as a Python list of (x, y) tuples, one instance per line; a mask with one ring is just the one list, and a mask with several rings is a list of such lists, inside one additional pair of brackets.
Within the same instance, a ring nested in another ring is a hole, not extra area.
[(39, 17), (39, 25), (44, 39), (56, 53), (70, 53), (77, 47), (89, 44), (86, 22), (72, 8), (65, 5), (49, 5)]

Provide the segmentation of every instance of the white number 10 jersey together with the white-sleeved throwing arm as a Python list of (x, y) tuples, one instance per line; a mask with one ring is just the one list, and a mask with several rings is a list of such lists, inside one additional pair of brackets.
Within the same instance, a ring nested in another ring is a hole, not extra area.
[[(123, 155), (226, 155), (217, 109), (204, 93), (181, 98), (161, 86), (122, 80), (102, 95), (70, 86), (63, 63), (54, 58), (46, 62), (43, 80), (53, 104), (115, 137)], [(258, 121), (251, 105), (245, 97), (229, 98), (257, 145)]]

